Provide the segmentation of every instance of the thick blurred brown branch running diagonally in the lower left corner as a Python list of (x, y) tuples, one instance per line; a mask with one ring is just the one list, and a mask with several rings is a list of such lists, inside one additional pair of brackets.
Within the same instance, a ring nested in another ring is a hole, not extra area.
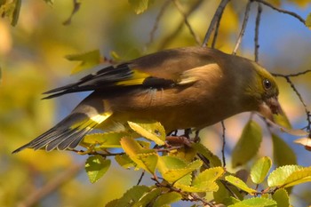
[(35, 206), (40, 200), (45, 196), (52, 194), (58, 187), (68, 182), (68, 180), (75, 177), (76, 173), (84, 169), (84, 163), (75, 164), (70, 166), (66, 171), (60, 173), (57, 177), (50, 180), (48, 183), (36, 190), (34, 193), (27, 196), (27, 198), (22, 201), (18, 206), (19, 207), (30, 207)]

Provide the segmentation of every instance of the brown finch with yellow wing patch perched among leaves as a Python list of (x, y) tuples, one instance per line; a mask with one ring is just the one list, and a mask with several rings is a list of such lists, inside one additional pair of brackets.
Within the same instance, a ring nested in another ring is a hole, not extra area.
[(44, 99), (92, 92), (52, 129), (17, 148), (70, 150), (94, 129), (116, 131), (131, 120), (156, 120), (165, 131), (202, 129), (236, 114), (282, 112), (278, 86), (258, 63), (217, 49), (167, 49), (44, 92)]

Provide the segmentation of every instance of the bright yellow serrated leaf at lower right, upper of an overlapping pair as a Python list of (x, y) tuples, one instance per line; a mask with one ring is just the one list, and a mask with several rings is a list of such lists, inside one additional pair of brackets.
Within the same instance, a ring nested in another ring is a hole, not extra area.
[(286, 179), (288, 179), (292, 173), (303, 169), (299, 165), (285, 165), (272, 171), (267, 178), (267, 185), (269, 187), (281, 187), (285, 184)]

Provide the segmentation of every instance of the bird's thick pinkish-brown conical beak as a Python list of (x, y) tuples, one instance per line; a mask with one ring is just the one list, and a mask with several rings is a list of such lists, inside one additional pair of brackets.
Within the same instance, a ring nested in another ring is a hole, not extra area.
[(282, 107), (277, 97), (271, 97), (259, 105), (259, 113), (270, 120), (273, 120), (273, 114), (283, 114)]

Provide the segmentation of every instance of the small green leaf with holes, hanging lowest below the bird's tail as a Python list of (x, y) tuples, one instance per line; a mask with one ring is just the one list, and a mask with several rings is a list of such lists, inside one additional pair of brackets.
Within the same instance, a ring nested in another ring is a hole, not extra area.
[(104, 159), (101, 155), (94, 155), (87, 158), (85, 171), (92, 183), (97, 182), (110, 167), (111, 161)]

